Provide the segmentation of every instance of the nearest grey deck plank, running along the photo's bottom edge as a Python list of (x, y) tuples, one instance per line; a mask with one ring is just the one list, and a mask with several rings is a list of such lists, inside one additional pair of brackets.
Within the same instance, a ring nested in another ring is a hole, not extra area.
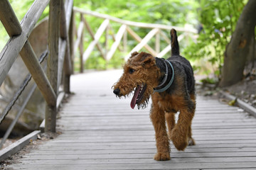
[[(153, 157), (154, 155), (151, 155)], [(26, 169), (241, 169), (252, 168), (256, 166), (255, 162), (198, 162), (179, 164), (176, 159), (169, 162), (156, 162), (129, 164), (126, 162), (120, 164), (82, 164), (82, 159), (67, 160), (46, 160), (42, 165), (40, 161), (25, 162)], [(18, 166), (13, 166), (18, 168)]]

